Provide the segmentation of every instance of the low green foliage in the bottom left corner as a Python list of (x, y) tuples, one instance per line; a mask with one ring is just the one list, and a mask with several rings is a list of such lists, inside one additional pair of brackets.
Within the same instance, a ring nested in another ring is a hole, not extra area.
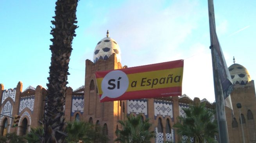
[(17, 133), (7, 133), (6, 136), (0, 136), (0, 143), (26, 143), (23, 137)]

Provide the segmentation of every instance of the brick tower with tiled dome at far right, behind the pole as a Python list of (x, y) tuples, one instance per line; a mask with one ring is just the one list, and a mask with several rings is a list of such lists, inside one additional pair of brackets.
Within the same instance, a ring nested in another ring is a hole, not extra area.
[[(230, 143), (242, 143), (242, 127), (244, 132), (245, 143), (256, 143), (256, 96), (254, 80), (248, 70), (239, 64), (235, 63), (229, 66), (229, 72), (234, 84), (234, 90), (231, 93), (231, 100), (234, 110), (234, 118), (232, 119), (231, 112), (226, 112), (227, 126), (229, 132)], [(237, 103), (241, 103), (241, 117)], [(228, 110), (228, 109), (226, 109)]]

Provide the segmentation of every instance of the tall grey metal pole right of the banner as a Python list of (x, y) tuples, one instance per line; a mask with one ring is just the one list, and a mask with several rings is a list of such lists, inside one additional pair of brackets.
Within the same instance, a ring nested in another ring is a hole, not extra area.
[(220, 81), (220, 75), (218, 73), (216, 57), (214, 56), (216, 51), (213, 47), (213, 29), (215, 30), (215, 16), (213, 0), (208, 0), (208, 11), (209, 11), (209, 29), (210, 29), (210, 39), (211, 39), (211, 58), (213, 66), (213, 81), (214, 81), (214, 92), (215, 92), (215, 102), (216, 102), (216, 114), (218, 119), (218, 134), (220, 143), (229, 143), (229, 138), (227, 134), (227, 120), (224, 106), (224, 95), (222, 91), (222, 85)]

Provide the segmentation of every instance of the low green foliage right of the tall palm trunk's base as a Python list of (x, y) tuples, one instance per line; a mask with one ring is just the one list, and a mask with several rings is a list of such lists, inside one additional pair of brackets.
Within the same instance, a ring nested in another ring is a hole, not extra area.
[(102, 134), (100, 125), (93, 125), (88, 122), (74, 121), (68, 122), (65, 129), (68, 136), (67, 143), (77, 143), (79, 140), (85, 143), (106, 143), (109, 139)]

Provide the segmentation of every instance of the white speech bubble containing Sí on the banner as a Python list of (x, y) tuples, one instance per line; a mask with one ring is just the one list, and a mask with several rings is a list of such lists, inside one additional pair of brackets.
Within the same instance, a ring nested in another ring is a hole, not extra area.
[(105, 97), (117, 98), (124, 94), (128, 86), (129, 79), (124, 72), (120, 70), (111, 71), (102, 80), (101, 89), (103, 94), (100, 100)]

